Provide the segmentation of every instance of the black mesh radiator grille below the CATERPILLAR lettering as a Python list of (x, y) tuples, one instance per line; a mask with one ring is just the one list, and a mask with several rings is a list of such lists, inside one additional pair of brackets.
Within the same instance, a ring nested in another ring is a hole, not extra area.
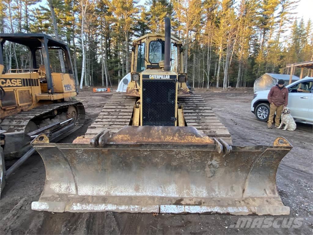
[(142, 125), (175, 126), (176, 82), (142, 79)]

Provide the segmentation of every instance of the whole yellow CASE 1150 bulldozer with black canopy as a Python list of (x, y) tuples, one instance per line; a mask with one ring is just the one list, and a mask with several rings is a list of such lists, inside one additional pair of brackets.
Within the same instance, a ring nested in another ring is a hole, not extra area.
[[(35, 152), (30, 142), (41, 133), (55, 141), (73, 133), (84, 123), (85, 108), (65, 101), (77, 95), (67, 44), (45, 34), (1, 33), (0, 42), (2, 191), (5, 178)], [(24, 68), (10, 69), (6, 42), (28, 50)], [(9, 159), (18, 160), (8, 168)]]

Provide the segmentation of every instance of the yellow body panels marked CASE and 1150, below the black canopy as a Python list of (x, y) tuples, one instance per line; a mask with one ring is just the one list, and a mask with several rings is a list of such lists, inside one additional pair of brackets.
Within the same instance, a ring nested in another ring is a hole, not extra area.
[(40, 82), (42, 79), (40, 72), (0, 74), (0, 85), (5, 91), (5, 96), (0, 101), (1, 119), (42, 104), (52, 103), (53, 100), (61, 101), (77, 95), (73, 75), (52, 73), (52, 78), (54, 94), (48, 94), (47, 84)]

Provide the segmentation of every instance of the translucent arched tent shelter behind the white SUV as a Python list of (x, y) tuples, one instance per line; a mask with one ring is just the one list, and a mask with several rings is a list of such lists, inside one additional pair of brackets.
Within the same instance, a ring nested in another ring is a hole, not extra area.
[[(263, 76), (254, 81), (254, 93), (257, 91), (270, 90), (273, 86), (277, 84), (278, 80), (280, 79), (283, 79), (285, 81), (285, 86), (287, 86), (289, 84), (289, 78), (289, 74), (265, 73)], [(292, 82), (299, 79), (299, 77), (292, 75)]]

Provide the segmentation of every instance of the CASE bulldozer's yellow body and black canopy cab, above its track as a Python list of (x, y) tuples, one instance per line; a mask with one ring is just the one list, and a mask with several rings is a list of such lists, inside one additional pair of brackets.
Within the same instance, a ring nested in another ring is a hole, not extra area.
[(67, 44), (46, 34), (22, 33), (1, 33), (0, 43), (2, 119), (77, 95)]

